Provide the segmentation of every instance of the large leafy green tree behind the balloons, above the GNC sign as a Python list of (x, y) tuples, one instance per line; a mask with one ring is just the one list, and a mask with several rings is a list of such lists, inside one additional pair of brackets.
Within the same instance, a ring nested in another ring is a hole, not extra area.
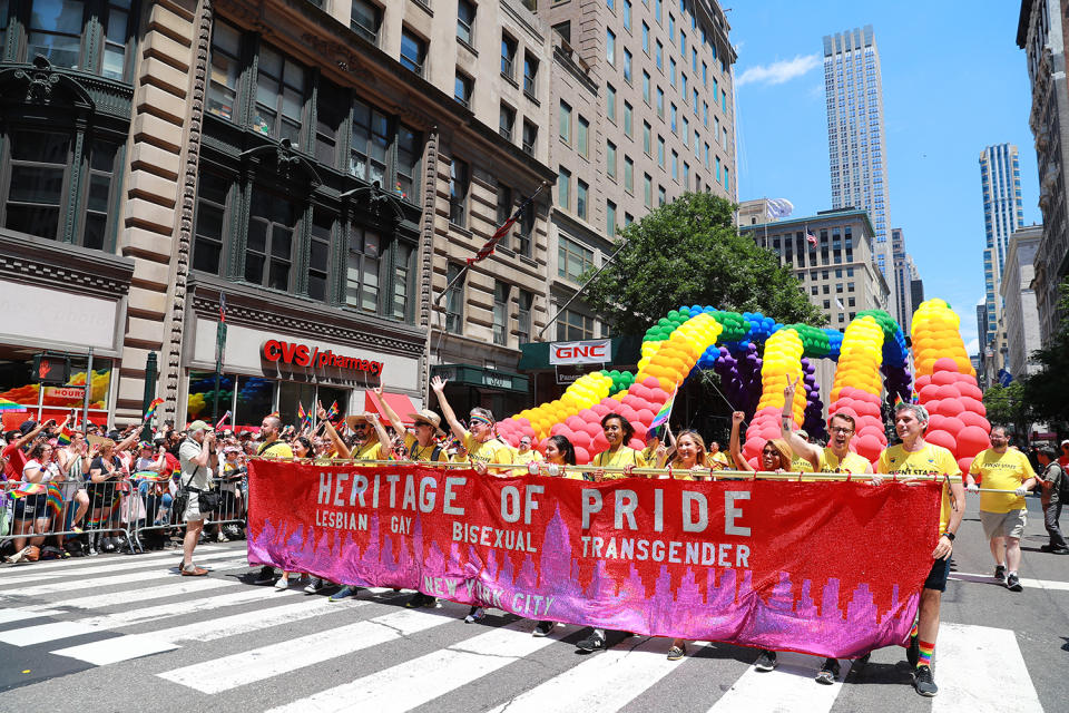
[(680, 305), (761, 312), (785, 324), (823, 324), (775, 254), (735, 228), (735, 206), (687, 193), (620, 232), (616, 258), (585, 292), (614, 333), (641, 334)]

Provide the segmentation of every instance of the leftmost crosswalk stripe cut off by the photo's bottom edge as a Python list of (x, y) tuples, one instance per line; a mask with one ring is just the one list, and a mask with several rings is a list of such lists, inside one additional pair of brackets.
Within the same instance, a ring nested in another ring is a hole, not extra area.
[(409, 711), (555, 643), (531, 636), (533, 623), (513, 622), (268, 713), (342, 713), (354, 707)]

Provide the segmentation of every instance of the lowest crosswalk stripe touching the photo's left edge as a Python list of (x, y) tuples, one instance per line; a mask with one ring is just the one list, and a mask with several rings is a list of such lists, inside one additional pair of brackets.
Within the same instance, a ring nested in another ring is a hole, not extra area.
[(273, 587), (256, 587), (235, 592), (233, 594), (223, 594), (199, 599), (186, 599), (184, 602), (173, 602), (158, 606), (148, 606), (137, 609), (128, 609), (116, 614), (106, 614), (79, 619), (76, 622), (50, 622), (48, 624), (38, 624), (36, 626), (24, 626), (22, 628), (12, 628), (0, 632), (0, 642), (11, 644), (12, 646), (32, 646), (46, 642), (53, 642), (60, 638), (70, 638), (82, 634), (92, 634), (96, 632), (120, 628), (122, 626), (134, 626), (144, 622), (159, 621), (185, 614), (196, 614), (208, 609), (218, 609), (226, 606), (236, 606), (258, 602), (261, 599), (283, 597), (296, 594), (296, 590), (277, 592)]

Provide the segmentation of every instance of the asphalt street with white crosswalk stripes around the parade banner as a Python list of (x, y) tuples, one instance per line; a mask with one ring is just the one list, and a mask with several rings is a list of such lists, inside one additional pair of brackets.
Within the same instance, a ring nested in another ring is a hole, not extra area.
[(245, 584), (245, 544), (231, 543), (198, 549), (205, 578), (168, 569), (174, 550), (0, 569), (0, 711), (1063, 711), (1069, 558), (1039, 551), (1029, 498), (1024, 590), (996, 585), (975, 496), (969, 507), (934, 699), (914, 693), (903, 648), (844, 665), (832, 686), (813, 681), (815, 657), (781, 654), (758, 673), (754, 651), (723, 644), (680, 662), (648, 637), (583, 655), (575, 626), (534, 638), (533, 622), (490, 611), (464, 624), (467, 607), (409, 611), (389, 589), (330, 603)]

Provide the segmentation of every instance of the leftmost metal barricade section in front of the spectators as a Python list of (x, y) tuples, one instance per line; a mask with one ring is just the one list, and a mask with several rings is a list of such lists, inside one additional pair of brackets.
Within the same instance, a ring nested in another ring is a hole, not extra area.
[[(141, 501), (129, 480), (0, 482), (0, 546), (40, 548), (41, 558), (65, 553), (136, 551), (131, 536)], [(76, 544), (77, 543), (77, 544)]]

